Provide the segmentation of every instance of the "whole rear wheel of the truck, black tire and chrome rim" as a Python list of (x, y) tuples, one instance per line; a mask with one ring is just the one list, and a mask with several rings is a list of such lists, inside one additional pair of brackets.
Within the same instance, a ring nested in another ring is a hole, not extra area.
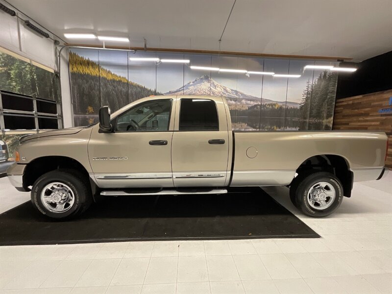
[(298, 178), (294, 188), (296, 207), (307, 216), (329, 216), (342, 204), (343, 186), (333, 173), (310, 172)]

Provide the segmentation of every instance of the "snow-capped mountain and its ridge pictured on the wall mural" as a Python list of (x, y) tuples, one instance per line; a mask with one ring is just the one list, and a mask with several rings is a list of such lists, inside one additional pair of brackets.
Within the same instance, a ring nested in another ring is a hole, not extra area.
[[(222, 96), (227, 98), (229, 104), (239, 103), (246, 106), (252, 106), (255, 104), (260, 104), (260, 98), (247, 95), (241, 91), (231, 89), (229, 87), (223, 86), (211, 76), (205, 74), (195, 80), (187, 83), (181, 88), (169, 91), (164, 95), (204, 95), (204, 96)], [(299, 107), (299, 103), (291, 101), (275, 101), (271, 99), (263, 98), (263, 104), (265, 103), (276, 103), (279, 105), (287, 105), (287, 107)]]

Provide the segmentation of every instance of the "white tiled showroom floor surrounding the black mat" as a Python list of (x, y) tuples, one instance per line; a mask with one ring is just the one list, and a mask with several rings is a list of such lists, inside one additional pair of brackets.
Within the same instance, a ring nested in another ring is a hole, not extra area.
[[(325, 219), (265, 191), (322, 238), (2, 246), (0, 293), (392, 293), (392, 172)], [(0, 179), (0, 212), (28, 199)]]

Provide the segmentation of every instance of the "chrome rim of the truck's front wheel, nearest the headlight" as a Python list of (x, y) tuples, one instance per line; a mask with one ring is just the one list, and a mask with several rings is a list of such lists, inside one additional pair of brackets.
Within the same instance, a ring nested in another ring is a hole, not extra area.
[(52, 182), (42, 189), (41, 202), (51, 212), (64, 213), (73, 207), (75, 195), (68, 185)]

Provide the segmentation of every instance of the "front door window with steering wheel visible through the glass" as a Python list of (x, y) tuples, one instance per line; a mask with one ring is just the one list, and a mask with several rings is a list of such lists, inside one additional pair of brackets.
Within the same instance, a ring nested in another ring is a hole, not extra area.
[(116, 131), (159, 132), (169, 130), (172, 99), (147, 101), (132, 107), (117, 119)]

